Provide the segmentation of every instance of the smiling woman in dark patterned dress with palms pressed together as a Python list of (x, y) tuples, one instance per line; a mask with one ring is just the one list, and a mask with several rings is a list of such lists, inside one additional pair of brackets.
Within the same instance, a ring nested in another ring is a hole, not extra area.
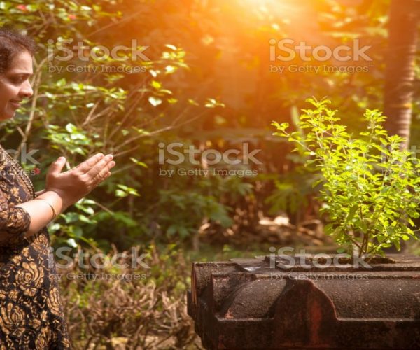
[[(32, 95), (34, 48), (27, 36), (0, 28), (0, 120)], [(45, 226), (110, 176), (115, 162), (99, 153), (62, 172), (65, 164), (58, 158), (35, 193), (0, 146), (0, 350), (70, 348)]]

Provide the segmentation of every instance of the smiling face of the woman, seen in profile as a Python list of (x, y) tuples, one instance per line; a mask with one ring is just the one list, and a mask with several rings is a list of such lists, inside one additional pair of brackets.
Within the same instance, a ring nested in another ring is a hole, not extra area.
[(23, 51), (13, 58), (10, 68), (0, 74), (0, 120), (13, 118), (22, 99), (32, 96), (29, 77), (33, 73), (31, 54)]

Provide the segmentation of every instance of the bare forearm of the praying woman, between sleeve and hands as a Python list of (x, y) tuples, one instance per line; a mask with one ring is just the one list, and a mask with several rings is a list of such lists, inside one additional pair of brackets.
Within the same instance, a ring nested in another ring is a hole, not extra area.
[[(50, 205), (54, 208), (50, 207)], [(31, 216), (31, 225), (27, 231), (27, 237), (34, 235), (52, 221), (57, 215), (61, 214), (65, 209), (63, 199), (53, 191), (44, 191), (35, 200), (30, 200), (25, 203), (20, 203), (16, 207), (25, 209), (29, 216)]]

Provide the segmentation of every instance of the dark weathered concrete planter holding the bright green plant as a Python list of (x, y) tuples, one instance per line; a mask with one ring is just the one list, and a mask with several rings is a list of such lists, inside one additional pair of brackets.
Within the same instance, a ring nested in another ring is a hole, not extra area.
[(420, 258), (389, 257), (372, 269), (197, 262), (188, 314), (206, 349), (420, 349)]

